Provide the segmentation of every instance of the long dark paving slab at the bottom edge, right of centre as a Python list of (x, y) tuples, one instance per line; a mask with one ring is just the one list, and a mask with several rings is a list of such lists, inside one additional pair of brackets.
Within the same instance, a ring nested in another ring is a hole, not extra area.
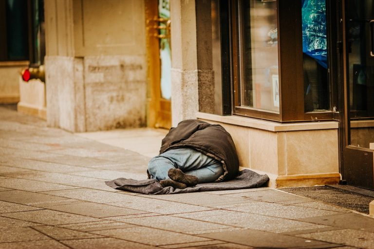
[[(240, 230), (201, 234), (199, 236), (251, 246), (255, 248), (331, 248), (337, 245), (306, 240), (294, 236), (257, 230)], [(271, 239), (270, 239), (271, 238)]]

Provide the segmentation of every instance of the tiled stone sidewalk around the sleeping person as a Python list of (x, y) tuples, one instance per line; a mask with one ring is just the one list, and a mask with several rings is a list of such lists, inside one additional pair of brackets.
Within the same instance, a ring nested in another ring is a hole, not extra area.
[(164, 135), (144, 131), (96, 133), (110, 144), (123, 136), (134, 152), (0, 107), (0, 249), (374, 248), (373, 218), (280, 190), (145, 196), (106, 186), (147, 177)]

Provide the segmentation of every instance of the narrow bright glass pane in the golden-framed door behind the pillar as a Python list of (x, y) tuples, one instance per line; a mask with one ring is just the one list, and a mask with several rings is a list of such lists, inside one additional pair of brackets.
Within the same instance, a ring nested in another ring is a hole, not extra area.
[(160, 35), (165, 38), (160, 39), (160, 60), (161, 60), (161, 97), (167, 100), (171, 99), (171, 52), (170, 52), (170, 3), (169, 0), (160, 0), (158, 6), (159, 18), (167, 19), (168, 21), (160, 22)]

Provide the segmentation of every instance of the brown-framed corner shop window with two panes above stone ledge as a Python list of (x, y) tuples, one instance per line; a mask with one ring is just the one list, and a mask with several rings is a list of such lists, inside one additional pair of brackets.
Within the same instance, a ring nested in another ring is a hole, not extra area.
[(332, 27), (338, 20), (329, 13), (330, 2), (230, 1), (234, 115), (281, 122), (334, 119)]

